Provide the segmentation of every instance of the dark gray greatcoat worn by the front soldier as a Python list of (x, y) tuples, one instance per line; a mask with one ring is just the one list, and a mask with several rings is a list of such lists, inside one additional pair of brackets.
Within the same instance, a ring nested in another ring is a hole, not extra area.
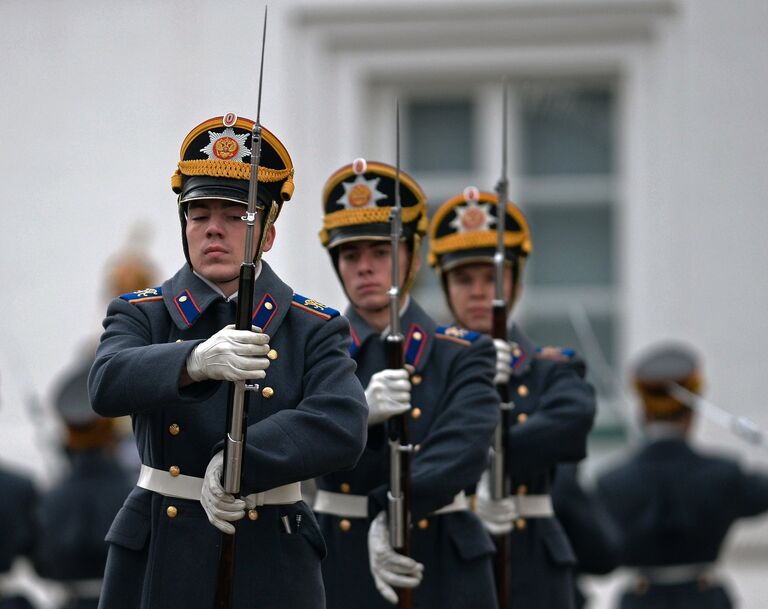
[[(367, 406), (338, 312), (294, 295), (262, 263), (254, 325), (275, 350), (250, 400), (242, 493), (251, 494), (352, 467), (365, 444)], [(230, 383), (179, 388), (190, 351), (227, 324), (236, 303), (183, 267), (162, 289), (112, 301), (89, 378), (104, 416), (131, 415), (145, 465), (202, 477), (225, 433)], [(174, 510), (169, 510), (173, 506)], [(289, 534), (281, 517), (293, 524)], [(237, 525), (233, 609), (321, 609), (325, 545), (298, 502), (258, 509)], [(134, 488), (107, 536), (101, 607), (211, 607), (222, 534), (200, 503)]]

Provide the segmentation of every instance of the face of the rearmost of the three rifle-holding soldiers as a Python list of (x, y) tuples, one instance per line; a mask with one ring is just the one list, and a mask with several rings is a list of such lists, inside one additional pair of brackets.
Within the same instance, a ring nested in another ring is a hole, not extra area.
[[(465, 264), (446, 274), (448, 301), (460, 326), (490, 334), (493, 328), (495, 268), (488, 263)], [(504, 300), (511, 301), (511, 273), (504, 273)]]

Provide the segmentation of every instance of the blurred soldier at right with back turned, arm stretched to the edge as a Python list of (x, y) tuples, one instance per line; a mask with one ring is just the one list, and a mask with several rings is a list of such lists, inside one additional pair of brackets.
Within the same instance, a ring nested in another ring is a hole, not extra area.
[(731, 607), (715, 563), (731, 525), (768, 510), (768, 476), (745, 472), (688, 443), (694, 413), (670, 394), (670, 385), (700, 393), (701, 367), (690, 347), (649, 347), (634, 364), (633, 377), (647, 442), (598, 479), (600, 496), (622, 532), (623, 564), (636, 572), (620, 607)]

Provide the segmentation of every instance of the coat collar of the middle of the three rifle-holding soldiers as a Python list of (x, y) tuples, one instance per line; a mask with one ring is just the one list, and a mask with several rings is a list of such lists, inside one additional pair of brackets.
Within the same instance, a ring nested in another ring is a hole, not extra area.
[[(382, 335), (371, 328), (354, 307), (349, 306), (344, 315), (349, 319), (352, 334), (350, 353), (353, 357), (365, 348), (367, 342), (382, 339)], [(410, 364), (415, 370), (421, 370), (429, 360), (437, 325), (413, 298), (409, 298), (405, 311), (400, 316), (400, 324), (405, 340), (406, 364)]]

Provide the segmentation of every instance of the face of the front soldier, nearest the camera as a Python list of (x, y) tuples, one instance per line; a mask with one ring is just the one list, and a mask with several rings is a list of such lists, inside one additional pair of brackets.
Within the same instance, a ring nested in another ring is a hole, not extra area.
[[(245, 255), (246, 206), (231, 201), (192, 201), (187, 209), (187, 245), (194, 269), (229, 295), (237, 289)], [(261, 238), (261, 224), (253, 232), (253, 252)], [(270, 227), (264, 251), (272, 248), (275, 230)]]

